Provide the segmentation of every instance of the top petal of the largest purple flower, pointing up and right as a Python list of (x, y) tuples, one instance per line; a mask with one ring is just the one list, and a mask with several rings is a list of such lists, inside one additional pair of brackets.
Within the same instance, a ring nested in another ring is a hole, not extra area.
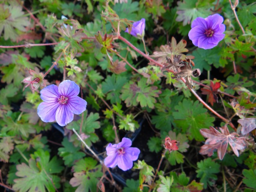
[(61, 96), (70, 97), (73, 95), (77, 96), (79, 94), (80, 88), (74, 81), (65, 80), (59, 84), (58, 90)]

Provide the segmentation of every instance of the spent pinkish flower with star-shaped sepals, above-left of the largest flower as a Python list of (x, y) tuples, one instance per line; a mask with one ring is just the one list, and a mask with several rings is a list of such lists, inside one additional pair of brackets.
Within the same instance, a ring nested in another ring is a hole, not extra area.
[(25, 79), (23, 79), (23, 81), (21, 81), (22, 83), (28, 83), (28, 85), (25, 86), (25, 88), (27, 88), (28, 86), (31, 85), (32, 88), (32, 92), (34, 92), (35, 90), (37, 90), (40, 86), (41, 87), (45, 87), (45, 81), (44, 81), (44, 74), (43, 73), (37, 73), (34, 70), (30, 69), (29, 70), (29, 74), (31, 76), (26, 77)]

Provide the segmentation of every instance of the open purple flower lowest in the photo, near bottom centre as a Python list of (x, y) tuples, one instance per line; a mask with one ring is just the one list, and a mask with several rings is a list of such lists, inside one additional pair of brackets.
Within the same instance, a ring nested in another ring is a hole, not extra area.
[(133, 161), (138, 159), (141, 152), (138, 148), (130, 147), (131, 145), (132, 141), (125, 137), (119, 144), (109, 143), (106, 147), (108, 157), (105, 158), (104, 164), (111, 168), (118, 166), (123, 171), (131, 169)]

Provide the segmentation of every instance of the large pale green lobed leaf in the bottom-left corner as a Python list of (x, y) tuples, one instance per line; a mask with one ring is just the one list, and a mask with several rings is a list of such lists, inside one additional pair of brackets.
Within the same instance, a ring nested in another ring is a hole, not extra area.
[(36, 151), (28, 161), (28, 165), (25, 163), (17, 165), (16, 175), (21, 178), (14, 179), (13, 189), (19, 190), (19, 192), (46, 192), (46, 189), (55, 192), (55, 187), (60, 187), (60, 178), (53, 174), (63, 170), (60, 164), (61, 162), (57, 160), (56, 156), (50, 161), (48, 151)]

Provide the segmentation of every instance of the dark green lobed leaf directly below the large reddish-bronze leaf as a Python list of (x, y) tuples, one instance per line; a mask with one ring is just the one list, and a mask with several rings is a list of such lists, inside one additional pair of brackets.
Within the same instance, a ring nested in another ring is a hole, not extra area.
[(207, 187), (207, 183), (213, 186), (212, 180), (217, 180), (218, 177), (215, 174), (220, 172), (220, 165), (212, 161), (211, 158), (207, 158), (197, 162), (197, 167), (197, 177), (200, 178), (200, 182), (204, 183), (204, 188)]

